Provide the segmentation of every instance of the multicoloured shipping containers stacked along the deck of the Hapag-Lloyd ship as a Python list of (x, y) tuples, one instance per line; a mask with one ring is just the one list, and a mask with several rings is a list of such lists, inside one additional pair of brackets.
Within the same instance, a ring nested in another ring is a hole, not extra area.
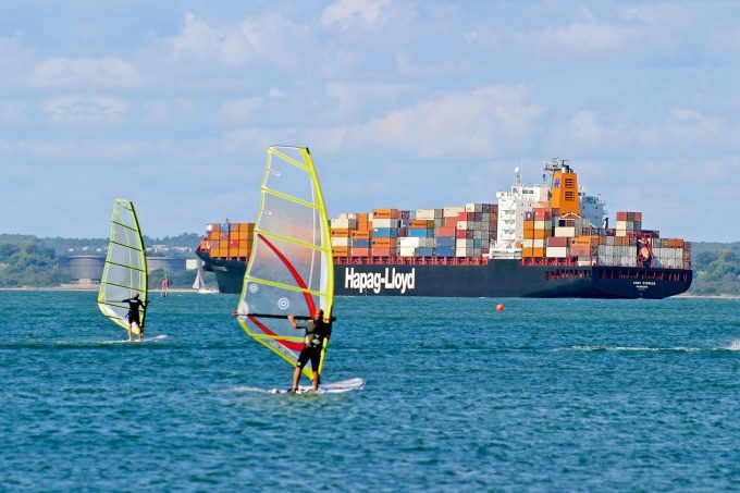
[[(492, 204), (443, 209), (373, 209), (331, 220), (334, 257), (485, 257), (496, 238), (498, 210)], [(246, 260), (254, 223), (213, 223), (200, 249), (211, 257)], [(580, 217), (558, 217), (557, 209), (535, 207), (525, 213), (522, 258), (559, 259), (579, 266), (688, 268), (691, 245), (642, 231), (642, 213), (617, 212), (615, 230), (597, 230)]]

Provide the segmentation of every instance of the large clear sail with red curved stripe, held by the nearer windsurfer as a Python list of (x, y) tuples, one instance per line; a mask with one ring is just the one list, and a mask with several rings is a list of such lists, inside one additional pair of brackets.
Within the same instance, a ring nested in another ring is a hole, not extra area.
[[(239, 324), (255, 341), (296, 366), (303, 334), (286, 317), (305, 320), (318, 308), (329, 317), (333, 301), (329, 219), (311, 155), (305, 147), (269, 147), (237, 307)], [(304, 373), (312, 373), (310, 362)]]

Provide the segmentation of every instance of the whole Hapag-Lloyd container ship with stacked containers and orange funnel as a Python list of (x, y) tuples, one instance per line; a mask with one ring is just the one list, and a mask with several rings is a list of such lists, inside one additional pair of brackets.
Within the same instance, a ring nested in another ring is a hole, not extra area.
[[(686, 292), (691, 244), (642, 227), (579, 187), (562, 159), (539, 185), (519, 169), (497, 204), (342, 213), (331, 220), (335, 293), (347, 296), (659, 299)], [(547, 177), (550, 180), (547, 180)], [(240, 293), (254, 223), (214, 223), (196, 254), (221, 293)]]

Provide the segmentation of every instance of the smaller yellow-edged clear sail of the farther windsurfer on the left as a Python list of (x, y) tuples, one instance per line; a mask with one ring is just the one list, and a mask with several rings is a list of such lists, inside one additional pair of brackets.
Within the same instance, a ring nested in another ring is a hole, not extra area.
[[(121, 301), (139, 295), (147, 303), (147, 257), (139, 231), (134, 205), (128, 200), (113, 201), (111, 237), (108, 245), (106, 264), (98, 291), (98, 307), (110, 321), (128, 330), (128, 304)], [(144, 328), (146, 308), (139, 309), (139, 322)], [(139, 335), (140, 329), (134, 324), (132, 332)]]

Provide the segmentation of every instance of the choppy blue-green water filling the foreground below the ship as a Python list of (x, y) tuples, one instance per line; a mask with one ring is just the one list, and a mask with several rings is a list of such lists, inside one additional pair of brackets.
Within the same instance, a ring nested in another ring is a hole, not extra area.
[(229, 315), (0, 292), (0, 473), (34, 491), (737, 491), (740, 300), (340, 298), (325, 381)]

